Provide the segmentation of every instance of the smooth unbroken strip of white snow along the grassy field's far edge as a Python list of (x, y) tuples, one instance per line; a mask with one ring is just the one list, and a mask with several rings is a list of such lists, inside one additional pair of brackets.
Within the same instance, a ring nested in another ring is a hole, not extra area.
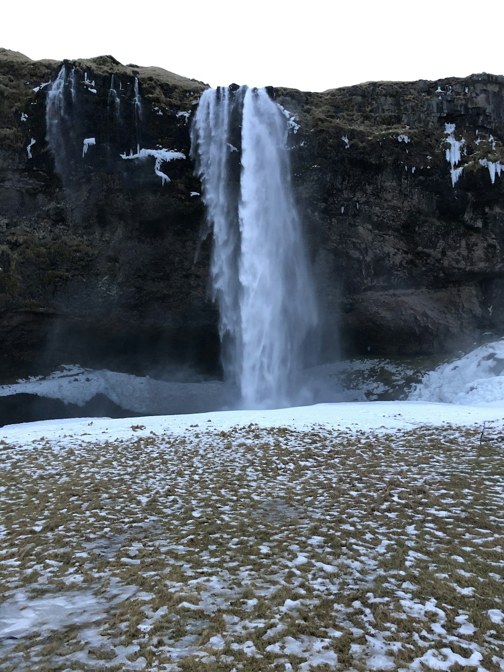
[[(233, 427), (288, 427), (306, 431), (309, 429), (340, 429), (376, 431), (413, 429), (426, 425), (456, 425), (471, 427), (483, 422), (499, 422), (504, 419), (504, 403), (501, 407), (471, 407), (454, 404), (437, 404), (419, 401), (373, 401), (366, 403), (334, 403), (314, 406), (276, 409), (271, 411), (212, 411), (210, 413), (187, 413), (184, 415), (158, 415), (132, 418), (77, 418), (43, 420), (0, 428), (0, 439), (29, 447), (33, 439), (64, 439), (69, 434), (79, 434), (79, 441), (103, 440), (103, 433), (119, 439), (149, 436), (151, 431), (164, 431), (183, 435), (191, 427), (208, 427), (214, 431), (228, 431)], [(208, 424), (207, 424), (208, 423)]]

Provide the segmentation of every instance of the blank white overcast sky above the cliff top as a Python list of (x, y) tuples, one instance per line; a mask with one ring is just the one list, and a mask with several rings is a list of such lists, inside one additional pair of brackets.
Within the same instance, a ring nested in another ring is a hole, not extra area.
[(213, 87), (504, 74), (502, 0), (11, 0), (0, 21), (0, 46), (30, 58), (112, 54)]

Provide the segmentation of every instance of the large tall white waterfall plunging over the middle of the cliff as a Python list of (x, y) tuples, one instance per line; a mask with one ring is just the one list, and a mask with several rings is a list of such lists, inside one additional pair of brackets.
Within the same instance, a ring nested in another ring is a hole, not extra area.
[(286, 117), (264, 89), (220, 87), (202, 94), (191, 132), (213, 228), (224, 376), (245, 407), (308, 401), (304, 348), (317, 306), (290, 182)]

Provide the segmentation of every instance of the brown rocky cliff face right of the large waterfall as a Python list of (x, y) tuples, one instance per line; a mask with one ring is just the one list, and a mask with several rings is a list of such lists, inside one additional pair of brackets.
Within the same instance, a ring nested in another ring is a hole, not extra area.
[(297, 192), (345, 340), (427, 353), (501, 332), (504, 77), (282, 94), (306, 134)]

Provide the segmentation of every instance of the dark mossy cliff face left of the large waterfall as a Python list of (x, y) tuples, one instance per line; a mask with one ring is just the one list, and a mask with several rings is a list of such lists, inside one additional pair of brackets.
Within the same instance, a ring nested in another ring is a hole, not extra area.
[(0, 370), (8, 377), (26, 363), (31, 372), (34, 360), (49, 369), (68, 361), (133, 372), (170, 361), (216, 368), (191, 162), (160, 162), (171, 180), (163, 185), (156, 157), (129, 158), (138, 149), (188, 157), (187, 122), (203, 85), (112, 57), (67, 63), (55, 156), (44, 84), (61, 65), (0, 53)]

